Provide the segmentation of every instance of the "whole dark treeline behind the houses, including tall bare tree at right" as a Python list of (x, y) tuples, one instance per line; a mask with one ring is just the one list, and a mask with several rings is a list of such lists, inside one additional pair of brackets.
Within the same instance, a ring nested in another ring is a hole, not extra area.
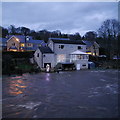
[(81, 36), (79, 32), (75, 34), (64, 34), (60, 30), (48, 31), (40, 30), (35, 31), (27, 27), (18, 27), (10, 25), (8, 28), (0, 27), (2, 36), (5, 38), (7, 35), (29, 35), (33, 39), (48, 41), (49, 37), (55, 38), (70, 38), (71, 40), (89, 40), (97, 41), (100, 45), (101, 54), (106, 54), (108, 58), (114, 55), (120, 56), (120, 23), (115, 19), (108, 19), (102, 23), (100, 28), (96, 31), (88, 31), (85, 35)]

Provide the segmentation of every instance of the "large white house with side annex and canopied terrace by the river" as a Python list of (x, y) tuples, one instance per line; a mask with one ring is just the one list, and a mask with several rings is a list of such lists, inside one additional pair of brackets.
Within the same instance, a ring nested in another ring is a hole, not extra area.
[(49, 38), (46, 49), (48, 48), (50, 52), (47, 55), (42, 52), (42, 47), (39, 47), (34, 53), (34, 59), (40, 68), (45, 68), (47, 64), (55, 67), (58, 63), (74, 63), (76, 68), (88, 68), (89, 56), (86, 53), (86, 44), (82, 41)]

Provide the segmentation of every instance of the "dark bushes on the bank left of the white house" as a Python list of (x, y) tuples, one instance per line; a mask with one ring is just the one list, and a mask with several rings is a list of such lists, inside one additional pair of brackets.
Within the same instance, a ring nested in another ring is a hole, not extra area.
[(31, 64), (29, 58), (32, 52), (3, 52), (2, 74), (22, 74), (39, 72), (37, 65)]

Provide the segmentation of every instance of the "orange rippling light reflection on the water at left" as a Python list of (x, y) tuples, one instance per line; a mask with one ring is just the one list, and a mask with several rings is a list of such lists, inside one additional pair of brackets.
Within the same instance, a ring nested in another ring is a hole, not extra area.
[(27, 87), (21, 76), (12, 77), (12, 81), (9, 83), (9, 94), (19, 95), (22, 94), (24, 89)]

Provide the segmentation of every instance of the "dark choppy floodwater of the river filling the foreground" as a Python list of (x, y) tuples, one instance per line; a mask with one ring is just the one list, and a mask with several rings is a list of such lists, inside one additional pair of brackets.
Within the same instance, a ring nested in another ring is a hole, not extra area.
[(118, 71), (3, 76), (3, 118), (116, 118)]

